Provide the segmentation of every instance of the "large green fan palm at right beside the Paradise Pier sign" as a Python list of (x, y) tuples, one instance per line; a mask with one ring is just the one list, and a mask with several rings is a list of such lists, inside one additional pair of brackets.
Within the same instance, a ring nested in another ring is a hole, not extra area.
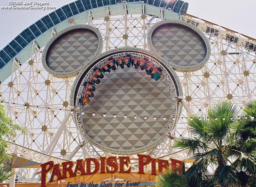
[[(208, 117), (192, 115), (188, 119), (193, 137), (180, 137), (172, 147), (187, 149), (195, 159), (184, 174), (189, 186), (201, 186), (200, 180), (216, 181), (221, 187), (248, 186), (256, 171), (256, 157), (246, 150), (241, 137), (249, 118), (238, 120), (237, 115), (235, 105), (222, 101), (208, 110)], [(252, 139), (247, 141), (247, 148), (255, 142)], [(209, 166), (216, 167), (210, 179)]]

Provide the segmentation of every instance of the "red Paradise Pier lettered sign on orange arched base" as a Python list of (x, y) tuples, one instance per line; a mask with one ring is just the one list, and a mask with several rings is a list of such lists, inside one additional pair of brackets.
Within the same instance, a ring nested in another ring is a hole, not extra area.
[[(47, 187), (49, 183), (53, 183), (56, 181), (65, 180), (67, 182), (67, 186), (70, 186), (72, 178), (76, 177), (83, 177), (83, 176), (93, 176), (93, 175), (102, 175), (97, 177), (97, 181), (83, 181), (79, 180), (80, 182), (90, 182), (86, 186), (93, 186), (93, 187), (106, 187), (106, 186), (141, 186), (140, 181), (135, 181), (134, 177), (126, 182), (123, 183), (106, 183), (102, 181), (104, 179), (103, 175), (114, 175), (114, 174), (121, 174), (124, 175), (151, 175), (153, 177), (149, 177), (149, 179), (155, 179), (156, 175), (163, 171), (164, 168), (171, 167), (172, 169), (181, 169), (182, 161), (170, 159), (170, 163), (168, 160), (163, 159), (155, 159), (151, 158), (149, 155), (137, 154), (138, 156), (138, 170), (136, 172), (132, 171), (132, 167), (129, 166), (131, 164), (131, 159), (129, 156), (110, 156), (110, 157), (100, 157), (99, 159), (96, 158), (86, 158), (85, 160), (76, 160), (62, 162), (61, 164), (54, 164), (53, 161), (46, 162), (41, 165), (42, 171), (42, 178), (41, 178), (41, 187)], [(118, 161), (119, 160), (119, 161)], [(137, 160), (137, 159), (136, 159)], [(135, 164), (136, 164), (135, 163)], [(134, 163), (132, 163), (134, 164)], [(149, 165), (151, 171), (144, 171), (144, 167)], [(48, 183), (47, 181), (47, 173), (52, 172), (50, 180)], [(78, 173), (79, 172), (79, 173)], [(56, 176), (57, 180), (54, 180)], [(129, 179), (129, 177), (122, 177), (125, 179)], [(93, 183), (101, 181), (100, 184)], [(147, 180), (152, 181), (152, 180)], [(77, 184), (78, 186), (85, 186), (85, 184)]]

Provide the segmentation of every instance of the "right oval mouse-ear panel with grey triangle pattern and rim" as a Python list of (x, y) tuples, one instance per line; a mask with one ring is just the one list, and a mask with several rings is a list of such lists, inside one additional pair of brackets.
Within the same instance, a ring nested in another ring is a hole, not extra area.
[(201, 30), (184, 21), (164, 20), (148, 32), (148, 47), (182, 72), (200, 69), (210, 58), (210, 43)]

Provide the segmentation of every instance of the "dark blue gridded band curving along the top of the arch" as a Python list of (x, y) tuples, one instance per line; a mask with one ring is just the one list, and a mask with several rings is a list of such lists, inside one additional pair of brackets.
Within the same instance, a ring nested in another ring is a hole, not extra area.
[(13, 59), (13, 57), (15, 57), (21, 50), (28, 46), (36, 37), (42, 35), (47, 30), (64, 21), (65, 19), (90, 9), (120, 3), (145, 3), (172, 10), (176, 13), (187, 12), (188, 10), (188, 3), (181, 0), (177, 0), (172, 4), (169, 4), (165, 0), (77, 0), (47, 14), (43, 18), (30, 25), (28, 28), (24, 29), (10, 43), (8, 43), (0, 51), (0, 71), (10, 60)]

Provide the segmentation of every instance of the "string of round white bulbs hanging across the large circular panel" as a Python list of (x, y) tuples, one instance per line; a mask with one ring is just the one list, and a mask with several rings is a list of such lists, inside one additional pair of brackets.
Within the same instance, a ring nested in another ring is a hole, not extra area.
[[(11, 103), (11, 102), (6, 102), (6, 101), (1, 101), (1, 103), (6, 103), (6, 104), (12, 104), (12, 105), (21, 105), (21, 106), (27, 106), (26, 104), (19, 104), (19, 103)], [(36, 105), (28, 105), (29, 107), (35, 107), (35, 108), (42, 108), (42, 109), (51, 109), (51, 110), (63, 110), (63, 111), (70, 111), (70, 113), (72, 114), (73, 111), (75, 111), (75, 109), (62, 109), (62, 108), (57, 108), (57, 107), (45, 107), (45, 106), (36, 106)], [(166, 119), (172, 119), (173, 121), (175, 119), (190, 119), (190, 120), (193, 120), (193, 119), (198, 119), (198, 120), (201, 120), (202, 117), (165, 117), (165, 116), (142, 116), (142, 115), (126, 115), (126, 114), (110, 114), (110, 113), (101, 113), (101, 112), (89, 112), (89, 111), (82, 111), (82, 115), (84, 115), (84, 113), (92, 113), (92, 116), (95, 116), (95, 114), (100, 114), (102, 115), (103, 117), (106, 117), (106, 115), (112, 115), (114, 118), (116, 118), (117, 116), (118, 117), (124, 117), (124, 118), (127, 118), (127, 117), (134, 117), (134, 119), (136, 119), (137, 117), (141, 117), (146, 120), (147, 118), (154, 118), (154, 120), (156, 120), (157, 118), (160, 119), (160, 118), (163, 118), (163, 120), (166, 120)], [(244, 119), (247, 119), (248, 117), (250, 117), (251, 119), (254, 119), (254, 116), (244, 116)], [(230, 120), (233, 120), (233, 117), (203, 117), (204, 119), (215, 119), (215, 120), (218, 120), (220, 118), (222, 118), (223, 120), (225, 119), (228, 119), (230, 118)], [(237, 118), (238, 120), (240, 120), (242, 118), (242, 116), (237, 116), (235, 117)]]

